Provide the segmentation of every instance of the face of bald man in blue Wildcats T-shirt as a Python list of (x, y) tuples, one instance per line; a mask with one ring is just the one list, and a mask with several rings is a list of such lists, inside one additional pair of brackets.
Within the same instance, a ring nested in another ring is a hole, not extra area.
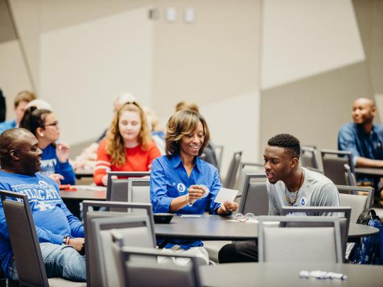
[[(33, 175), (40, 170), (42, 150), (38, 148), (38, 140), (32, 134), (26, 134), (15, 144), (12, 155), (18, 164), (18, 172)], [(12, 154), (12, 150), (11, 150)]]

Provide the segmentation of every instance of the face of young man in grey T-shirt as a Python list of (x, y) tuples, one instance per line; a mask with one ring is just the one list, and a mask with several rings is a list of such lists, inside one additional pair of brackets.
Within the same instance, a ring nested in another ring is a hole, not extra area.
[(263, 158), (266, 176), (272, 184), (288, 178), (293, 170), (292, 167), (297, 164), (294, 160), (296, 158), (293, 158), (285, 148), (278, 146), (266, 146)]

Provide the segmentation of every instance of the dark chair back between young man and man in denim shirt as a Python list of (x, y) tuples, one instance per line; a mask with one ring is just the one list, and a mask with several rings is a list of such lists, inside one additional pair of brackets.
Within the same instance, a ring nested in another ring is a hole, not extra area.
[(321, 150), (323, 174), (330, 178), (334, 184), (346, 185), (345, 167), (347, 164), (354, 172), (351, 152), (344, 150)]

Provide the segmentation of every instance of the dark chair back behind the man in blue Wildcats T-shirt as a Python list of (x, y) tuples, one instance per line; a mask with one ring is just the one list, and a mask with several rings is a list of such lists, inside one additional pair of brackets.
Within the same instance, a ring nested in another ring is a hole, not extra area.
[(0, 195), (21, 286), (49, 286), (27, 195), (12, 191)]

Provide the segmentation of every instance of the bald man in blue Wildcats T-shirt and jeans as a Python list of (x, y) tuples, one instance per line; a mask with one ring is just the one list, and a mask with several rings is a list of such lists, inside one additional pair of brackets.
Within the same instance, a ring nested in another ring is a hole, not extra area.
[[(85, 256), (79, 254), (84, 244), (83, 224), (62, 202), (57, 183), (37, 173), (41, 154), (36, 137), (25, 128), (4, 131), (0, 135), (0, 189), (28, 196), (48, 277), (83, 282)], [(1, 202), (0, 262), (5, 275), (17, 280)]]

